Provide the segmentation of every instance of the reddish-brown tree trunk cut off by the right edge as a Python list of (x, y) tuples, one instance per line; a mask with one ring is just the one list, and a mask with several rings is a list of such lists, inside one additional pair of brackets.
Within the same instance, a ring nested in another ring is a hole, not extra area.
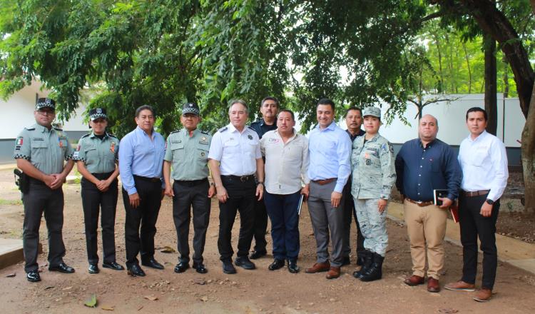
[(522, 171), (524, 174), (524, 211), (535, 213), (535, 84), (531, 91), (531, 110), (522, 131)]

